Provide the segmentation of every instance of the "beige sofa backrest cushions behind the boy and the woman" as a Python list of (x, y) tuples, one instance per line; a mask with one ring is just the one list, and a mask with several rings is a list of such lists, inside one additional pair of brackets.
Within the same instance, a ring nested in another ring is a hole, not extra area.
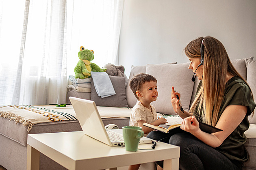
[[(254, 101), (256, 101), (256, 60), (253, 57), (231, 60), (236, 70), (247, 81), (252, 93)], [(143, 65), (132, 66), (128, 85), (126, 86), (126, 99), (128, 107), (133, 107), (137, 101), (136, 97), (129, 88), (129, 82), (138, 73), (148, 73), (156, 77), (158, 86), (158, 99), (152, 102), (156, 107), (157, 112), (164, 114), (176, 114), (171, 106), (171, 86), (181, 94), (181, 103), (184, 110), (189, 110), (193, 102), (195, 91), (199, 81), (196, 78), (195, 82), (191, 81), (193, 72), (188, 69), (187, 63), (167, 63), (159, 65)], [(256, 124), (256, 116), (249, 117), (250, 123)]]

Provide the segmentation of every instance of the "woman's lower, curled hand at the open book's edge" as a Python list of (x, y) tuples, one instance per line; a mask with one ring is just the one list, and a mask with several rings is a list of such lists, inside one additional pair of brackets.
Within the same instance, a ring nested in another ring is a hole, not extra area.
[(180, 129), (187, 131), (189, 133), (196, 133), (199, 131), (199, 122), (196, 120), (195, 116), (189, 116), (183, 119)]

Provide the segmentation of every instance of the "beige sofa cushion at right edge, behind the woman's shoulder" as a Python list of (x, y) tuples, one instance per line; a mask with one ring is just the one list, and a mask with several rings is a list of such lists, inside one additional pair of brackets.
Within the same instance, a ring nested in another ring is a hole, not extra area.
[[(252, 89), (252, 94), (254, 95), (254, 102), (256, 102), (256, 60), (246, 60), (247, 67), (247, 83)], [(255, 110), (254, 110), (255, 113)], [(249, 116), (250, 123), (256, 124), (256, 114), (254, 116)]]

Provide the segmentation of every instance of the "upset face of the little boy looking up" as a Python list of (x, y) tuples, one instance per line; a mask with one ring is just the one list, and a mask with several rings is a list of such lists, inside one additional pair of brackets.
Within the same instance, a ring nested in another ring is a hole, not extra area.
[(146, 82), (141, 86), (139, 92), (139, 100), (141, 102), (151, 103), (152, 101), (156, 101), (158, 96), (157, 83), (154, 81)]

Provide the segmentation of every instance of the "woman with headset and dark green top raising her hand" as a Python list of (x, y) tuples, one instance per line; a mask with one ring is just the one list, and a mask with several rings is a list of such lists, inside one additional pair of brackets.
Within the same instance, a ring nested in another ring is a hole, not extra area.
[[(201, 80), (189, 112), (180, 110), (176, 97), (180, 99), (180, 93), (172, 87), (171, 103), (183, 118), (180, 128), (185, 132), (167, 137), (168, 134), (152, 131), (148, 137), (164, 138), (163, 142), (180, 146), (180, 169), (241, 169), (248, 159), (244, 132), (249, 128), (248, 116), (256, 106), (249, 85), (234, 69), (217, 39), (200, 37), (191, 41), (184, 52), (190, 61), (189, 69)], [(223, 131), (205, 133), (197, 120)]]

